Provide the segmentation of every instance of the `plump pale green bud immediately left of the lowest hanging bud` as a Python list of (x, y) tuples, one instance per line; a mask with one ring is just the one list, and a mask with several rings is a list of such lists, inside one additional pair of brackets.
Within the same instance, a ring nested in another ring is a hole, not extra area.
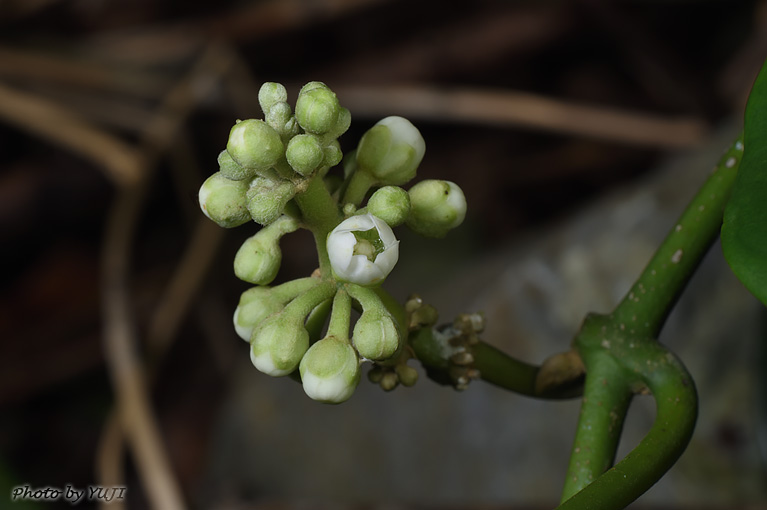
[(298, 368), (309, 348), (309, 332), (303, 317), (283, 311), (264, 320), (253, 330), (250, 361), (259, 371), (279, 377)]

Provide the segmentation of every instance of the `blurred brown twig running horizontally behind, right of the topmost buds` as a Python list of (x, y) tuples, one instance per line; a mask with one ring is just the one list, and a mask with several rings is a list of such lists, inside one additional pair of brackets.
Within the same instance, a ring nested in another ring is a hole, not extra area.
[(524, 92), (419, 86), (337, 86), (334, 90), (357, 115), (516, 125), (660, 148), (694, 146), (706, 134), (705, 123), (695, 118), (579, 105)]

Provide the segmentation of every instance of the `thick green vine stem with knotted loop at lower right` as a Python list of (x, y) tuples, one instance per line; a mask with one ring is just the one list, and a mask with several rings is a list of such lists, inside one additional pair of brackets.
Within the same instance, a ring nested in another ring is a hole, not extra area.
[[(576, 336), (574, 346), (586, 367), (586, 385), (562, 508), (623, 508), (660, 479), (684, 451), (697, 416), (697, 395), (684, 366), (658, 344), (657, 336), (719, 233), (742, 154), (741, 135), (626, 297), (611, 314), (588, 316)], [(631, 392), (648, 389), (658, 410), (652, 429), (624, 460), (607, 470), (617, 437), (612, 435), (615, 430), (595, 434), (595, 427), (622, 423)]]

